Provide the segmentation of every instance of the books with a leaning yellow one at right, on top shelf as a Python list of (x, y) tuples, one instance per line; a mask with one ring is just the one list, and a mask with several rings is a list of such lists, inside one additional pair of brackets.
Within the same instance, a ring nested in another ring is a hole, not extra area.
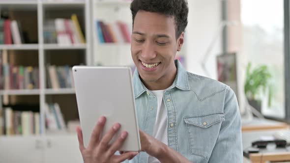
[(86, 43), (76, 14), (71, 19), (47, 20), (43, 27), (44, 43), (72, 45)]

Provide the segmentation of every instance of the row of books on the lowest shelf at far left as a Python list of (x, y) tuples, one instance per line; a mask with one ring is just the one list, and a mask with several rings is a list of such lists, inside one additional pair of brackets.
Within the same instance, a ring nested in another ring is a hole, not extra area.
[(0, 109), (0, 136), (38, 135), (40, 133), (39, 112)]

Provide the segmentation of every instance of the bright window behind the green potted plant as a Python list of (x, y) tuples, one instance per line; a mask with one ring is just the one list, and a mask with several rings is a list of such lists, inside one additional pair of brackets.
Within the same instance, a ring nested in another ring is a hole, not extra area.
[[(266, 65), (270, 87), (260, 98), (265, 116), (286, 118), (283, 0), (241, 0), (241, 51), (252, 67)], [(289, 71), (289, 70), (287, 70)], [(268, 104), (268, 105), (267, 105)]]

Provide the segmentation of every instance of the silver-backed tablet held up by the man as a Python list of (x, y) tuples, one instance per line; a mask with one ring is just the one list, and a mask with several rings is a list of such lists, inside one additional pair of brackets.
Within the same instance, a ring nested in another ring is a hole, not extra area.
[(121, 131), (127, 131), (128, 136), (119, 150), (140, 151), (131, 69), (74, 66), (72, 70), (85, 147), (99, 117), (105, 116), (107, 120), (101, 136), (118, 122), (121, 128), (110, 143)]

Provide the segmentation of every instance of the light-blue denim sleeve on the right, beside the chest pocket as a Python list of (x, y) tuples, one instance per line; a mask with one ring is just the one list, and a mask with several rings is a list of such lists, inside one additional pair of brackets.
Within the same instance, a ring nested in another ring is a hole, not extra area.
[(225, 121), (208, 163), (242, 163), (241, 118), (236, 96), (230, 87), (226, 89), (224, 114)]

